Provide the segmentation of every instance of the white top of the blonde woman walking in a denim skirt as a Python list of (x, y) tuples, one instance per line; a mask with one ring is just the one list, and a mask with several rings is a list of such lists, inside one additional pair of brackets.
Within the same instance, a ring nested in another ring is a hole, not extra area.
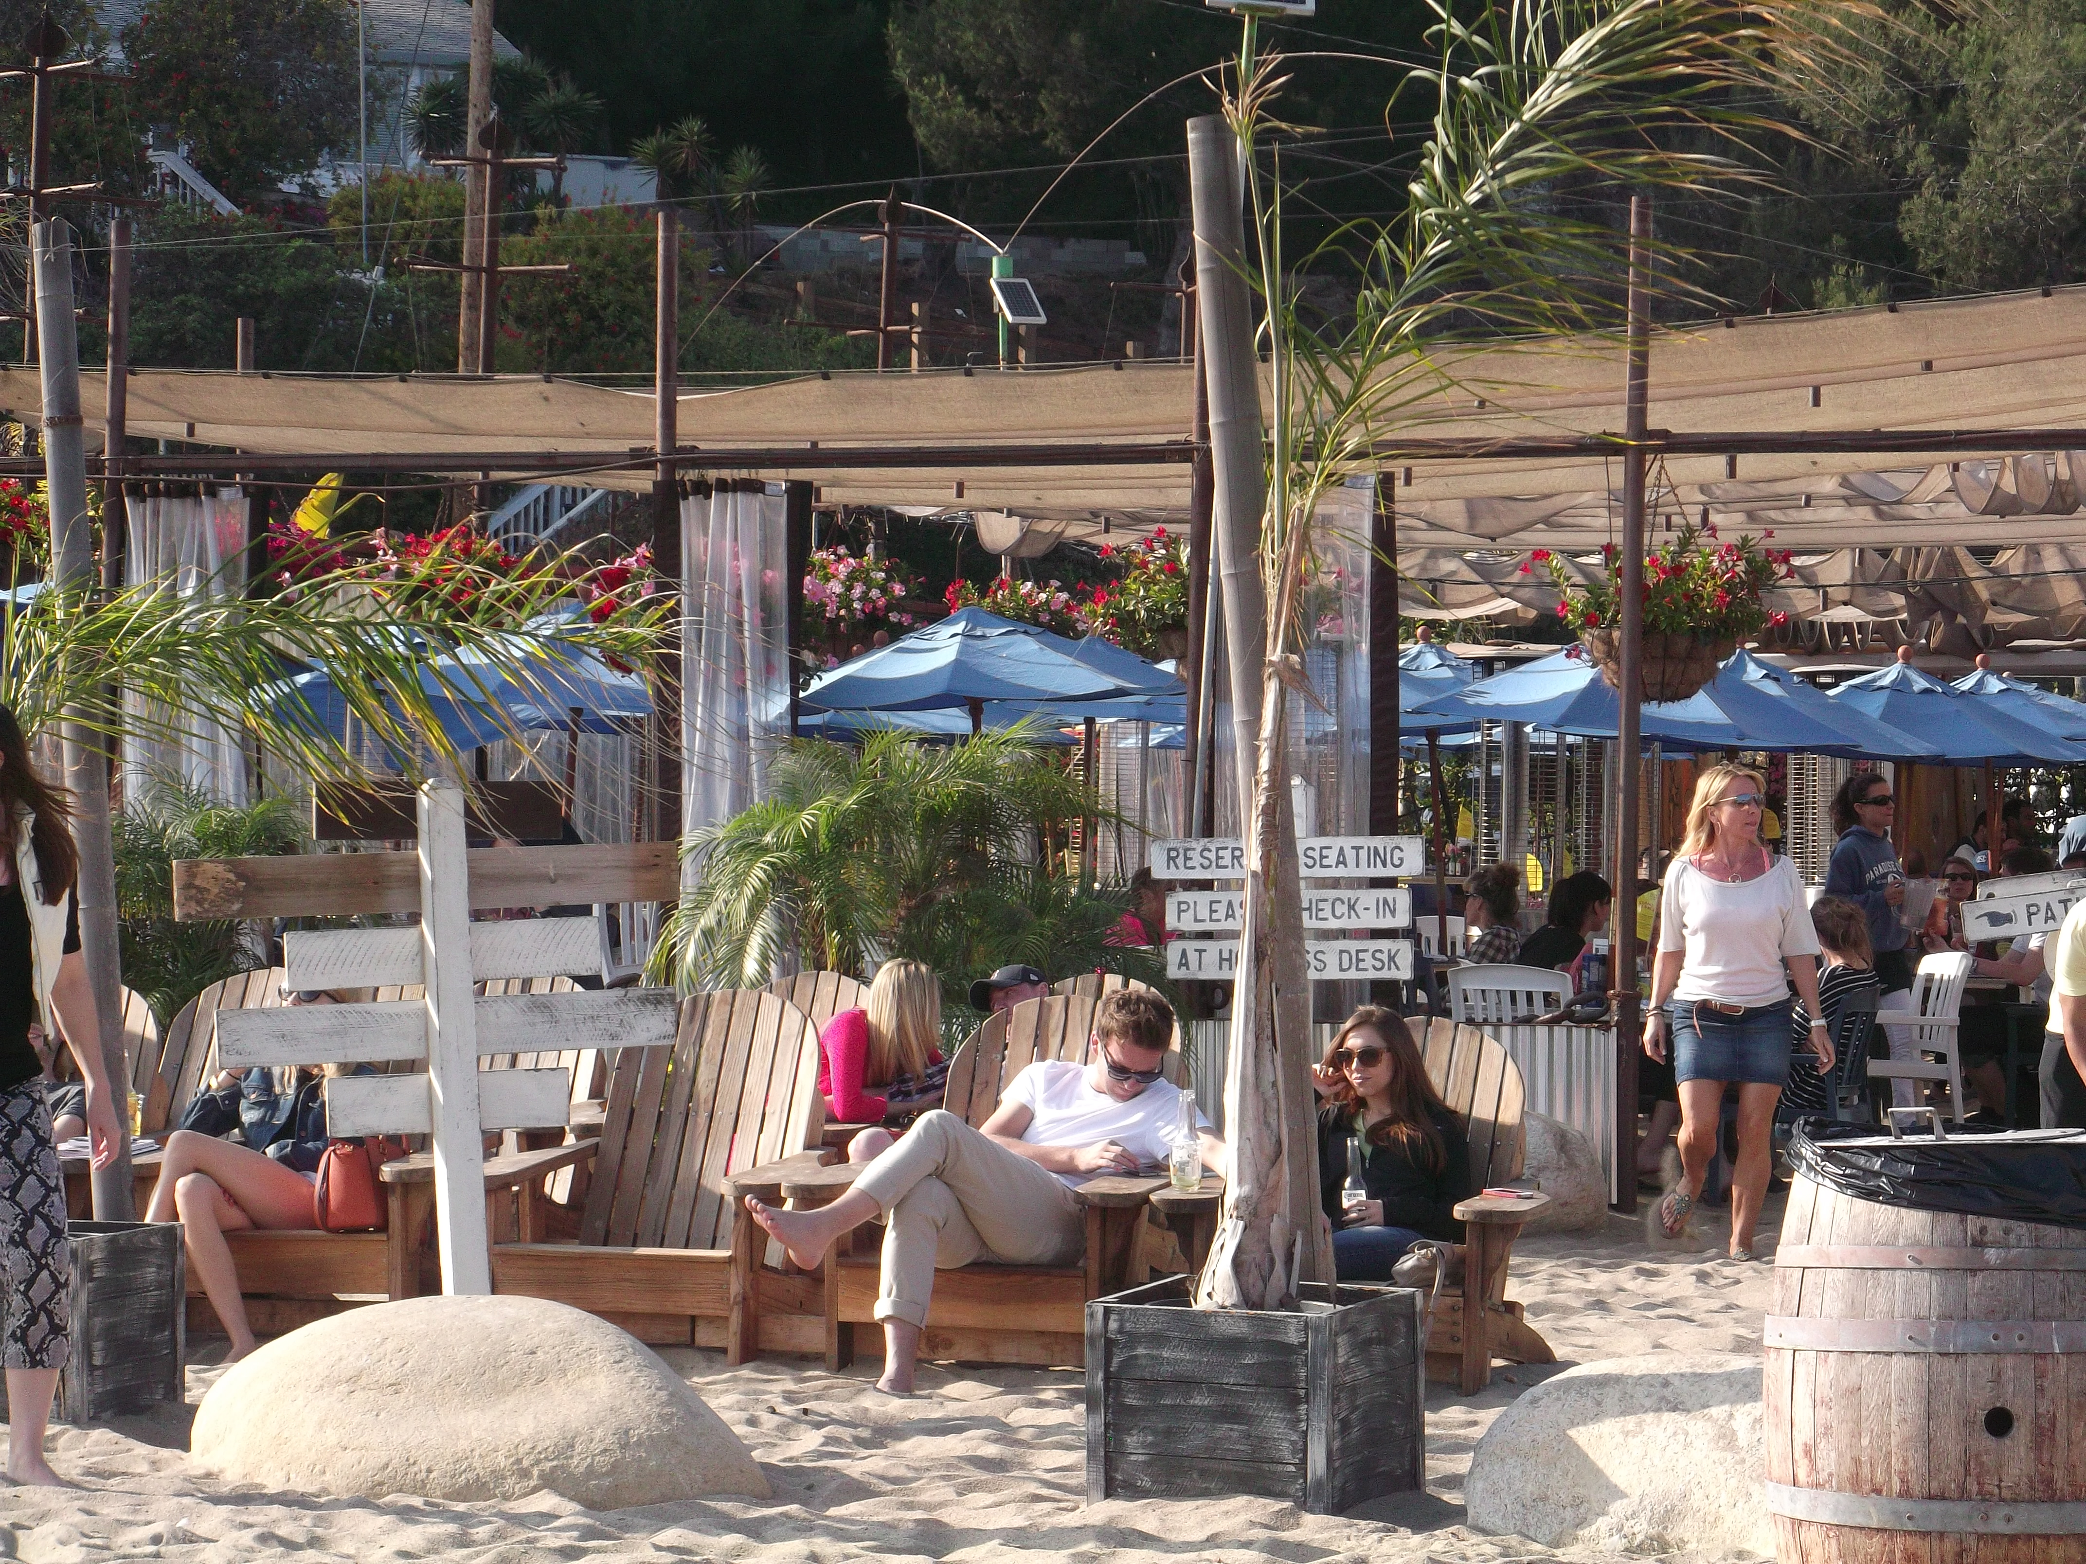
[(1727, 884), (1677, 857), (1658, 899), (1658, 949), (1681, 951), (1675, 999), (1775, 1005), (1790, 997), (1788, 955), (1817, 955), (1796, 863), (1775, 859), (1756, 880)]

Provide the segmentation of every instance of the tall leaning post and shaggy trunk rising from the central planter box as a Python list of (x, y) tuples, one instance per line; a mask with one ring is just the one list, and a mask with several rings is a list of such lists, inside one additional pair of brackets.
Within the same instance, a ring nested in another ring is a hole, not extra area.
[[(1189, 121), (1197, 304), (1216, 467), (1214, 536), (1231, 659), (1233, 730), (1245, 851), (1245, 928), (1224, 1070), (1231, 1145), (1224, 1222), (1197, 1285), (1197, 1308), (1289, 1308), (1297, 1280), (1331, 1280), (1318, 1214), (1318, 1141), (1310, 1086), (1310, 980), (1304, 970), (1285, 697), (1268, 659), (1260, 576), (1266, 507), (1260, 377), (1245, 294), (1237, 140), (1220, 117)], [(1268, 1082), (1277, 1082), (1270, 1093)]]

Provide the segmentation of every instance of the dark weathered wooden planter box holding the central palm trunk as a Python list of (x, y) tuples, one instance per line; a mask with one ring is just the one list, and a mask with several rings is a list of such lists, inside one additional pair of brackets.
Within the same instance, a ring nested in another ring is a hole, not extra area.
[(1304, 1310), (1197, 1312), (1168, 1276), (1087, 1303), (1087, 1501), (1258, 1493), (1335, 1514), (1427, 1483), (1410, 1287), (1304, 1287)]

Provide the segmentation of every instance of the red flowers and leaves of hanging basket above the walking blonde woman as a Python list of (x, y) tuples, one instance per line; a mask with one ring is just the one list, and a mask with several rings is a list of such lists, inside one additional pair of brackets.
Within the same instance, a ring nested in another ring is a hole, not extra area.
[[(1746, 640), (1767, 626), (1788, 624), (1786, 613), (1769, 613), (1761, 594), (1790, 578), (1786, 548), (1765, 548), (1765, 538), (1717, 542), (1717, 530), (1702, 534), (1688, 528), (1644, 559), (1644, 630), (1646, 634), (1700, 636), (1702, 640)], [(1535, 548), (1529, 565), (1548, 565), (1558, 586), (1558, 617), (1575, 632), (1617, 628), (1619, 561), (1615, 544), (1602, 544), (1602, 580), (1581, 586), (1564, 571), (1564, 561), (1548, 548)]]

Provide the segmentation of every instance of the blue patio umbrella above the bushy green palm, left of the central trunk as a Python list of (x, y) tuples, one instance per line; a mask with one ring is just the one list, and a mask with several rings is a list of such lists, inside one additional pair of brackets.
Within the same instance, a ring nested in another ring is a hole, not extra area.
[(820, 674), (799, 703), (809, 711), (953, 707), (983, 717), (978, 707), (989, 701), (1060, 705), (1149, 694), (1185, 694), (1185, 686), (1099, 636), (1068, 640), (985, 609), (957, 609)]

